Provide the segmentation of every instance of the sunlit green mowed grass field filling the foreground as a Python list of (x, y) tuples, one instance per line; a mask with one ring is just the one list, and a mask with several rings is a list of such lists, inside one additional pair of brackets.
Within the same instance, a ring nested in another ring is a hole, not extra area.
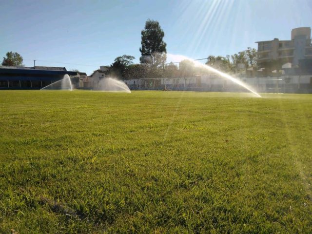
[(312, 95), (263, 96), (0, 91), (0, 233), (312, 233)]

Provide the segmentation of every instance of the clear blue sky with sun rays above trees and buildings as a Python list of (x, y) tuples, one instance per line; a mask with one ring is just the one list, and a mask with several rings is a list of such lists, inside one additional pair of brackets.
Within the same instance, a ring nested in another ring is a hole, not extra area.
[(14, 51), (26, 66), (37, 59), (87, 74), (124, 54), (138, 62), (147, 19), (159, 21), (168, 53), (200, 59), (290, 39), (292, 28), (312, 26), (312, 1), (0, 0), (0, 57)]

